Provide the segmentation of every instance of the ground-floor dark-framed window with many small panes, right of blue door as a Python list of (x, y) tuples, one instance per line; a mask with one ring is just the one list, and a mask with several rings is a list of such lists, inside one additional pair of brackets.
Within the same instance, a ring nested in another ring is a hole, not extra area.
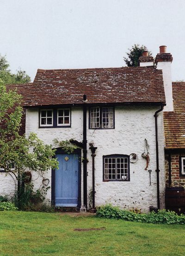
[(129, 155), (103, 156), (103, 181), (129, 181)]

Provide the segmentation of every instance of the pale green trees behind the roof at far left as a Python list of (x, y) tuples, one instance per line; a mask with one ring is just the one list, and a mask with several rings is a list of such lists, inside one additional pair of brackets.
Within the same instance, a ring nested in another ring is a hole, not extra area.
[(0, 79), (5, 84), (11, 83), (30, 83), (31, 78), (23, 70), (18, 70), (16, 74), (12, 74), (9, 69), (10, 65), (6, 60), (6, 56), (0, 55)]

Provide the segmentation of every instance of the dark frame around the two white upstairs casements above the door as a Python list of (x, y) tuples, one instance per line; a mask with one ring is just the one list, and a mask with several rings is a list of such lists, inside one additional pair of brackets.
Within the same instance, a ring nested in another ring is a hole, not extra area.
[[(58, 124), (58, 110), (69, 110), (69, 124)], [(52, 110), (52, 125), (41, 125), (42, 110)], [(39, 127), (38, 128), (70, 128), (71, 127), (71, 107), (57, 107), (57, 108), (40, 108), (38, 111)]]

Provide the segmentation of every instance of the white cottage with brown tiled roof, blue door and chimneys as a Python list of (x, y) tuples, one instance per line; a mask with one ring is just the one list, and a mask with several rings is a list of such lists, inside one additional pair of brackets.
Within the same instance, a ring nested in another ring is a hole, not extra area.
[[(26, 135), (35, 132), (53, 147), (55, 140), (76, 146), (71, 154), (57, 147), (59, 170), (44, 177), (53, 204), (165, 208), (163, 113), (165, 120), (173, 113), (171, 62), (160, 47), (155, 66), (145, 51), (140, 67), (37, 70), (25, 97)], [(43, 177), (34, 175), (37, 188)]]

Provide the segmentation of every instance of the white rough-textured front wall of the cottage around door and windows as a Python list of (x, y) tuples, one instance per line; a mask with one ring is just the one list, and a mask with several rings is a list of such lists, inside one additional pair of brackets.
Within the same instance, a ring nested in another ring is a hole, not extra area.
[[(87, 113), (87, 197), (92, 188), (92, 156), (89, 143), (93, 142), (97, 148), (95, 157), (95, 205), (112, 203), (127, 209), (142, 209), (149, 211), (149, 206), (157, 206), (156, 188), (156, 154), (155, 154), (155, 121), (154, 112), (160, 107), (116, 107), (115, 129), (88, 129)], [(162, 196), (165, 190), (164, 169), (164, 132), (163, 115), (159, 114), (159, 161), (160, 161), (160, 198), (161, 208), (164, 207)], [(26, 134), (37, 133), (38, 137), (47, 144), (53, 144), (53, 139), (69, 140), (71, 138), (83, 140), (83, 111), (81, 108), (72, 108), (71, 128), (38, 128), (38, 109), (26, 110)], [(144, 139), (147, 139), (150, 163), (148, 169), (151, 173), (151, 186), (149, 186), (149, 173), (144, 170), (146, 160), (142, 158), (144, 151)], [(108, 154), (131, 154), (136, 153), (138, 160), (135, 164), (130, 163), (130, 181), (103, 182), (103, 155)], [(82, 204), (83, 204), (83, 165), (82, 167)], [(36, 173), (33, 179), (36, 179)], [(45, 178), (51, 182), (51, 171)], [(38, 188), (42, 183), (38, 178), (34, 181)], [(49, 183), (51, 186), (51, 183)], [(51, 198), (51, 191), (47, 197)]]

